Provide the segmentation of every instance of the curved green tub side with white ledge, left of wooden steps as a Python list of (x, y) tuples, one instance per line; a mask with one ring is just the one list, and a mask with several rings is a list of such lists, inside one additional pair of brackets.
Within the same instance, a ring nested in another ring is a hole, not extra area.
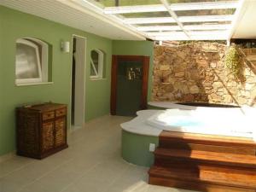
[(154, 154), (148, 151), (149, 143), (158, 146), (160, 129), (145, 124), (145, 119), (158, 110), (142, 110), (137, 117), (122, 123), (122, 157), (137, 166), (152, 166)]

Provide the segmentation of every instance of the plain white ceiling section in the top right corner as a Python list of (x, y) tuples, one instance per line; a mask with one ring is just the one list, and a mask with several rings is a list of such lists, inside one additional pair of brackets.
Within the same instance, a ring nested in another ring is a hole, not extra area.
[(256, 38), (256, 0), (247, 0), (232, 38)]

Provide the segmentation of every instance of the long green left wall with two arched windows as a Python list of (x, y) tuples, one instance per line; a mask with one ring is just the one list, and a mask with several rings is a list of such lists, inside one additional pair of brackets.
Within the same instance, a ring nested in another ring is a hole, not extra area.
[[(62, 53), (60, 44), (61, 40), (71, 42), (73, 34), (87, 38), (87, 69), (91, 49), (102, 49), (107, 55), (106, 79), (92, 81), (90, 70), (86, 70), (85, 119), (89, 120), (109, 113), (112, 40), (0, 6), (0, 155), (15, 150), (17, 106), (52, 101), (67, 103), (70, 109), (72, 55)], [(15, 85), (15, 41), (24, 37), (40, 38), (52, 45), (54, 84)]]

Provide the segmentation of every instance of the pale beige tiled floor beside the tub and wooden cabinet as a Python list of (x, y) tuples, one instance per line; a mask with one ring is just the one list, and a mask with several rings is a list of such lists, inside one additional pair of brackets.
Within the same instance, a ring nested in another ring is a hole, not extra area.
[(0, 192), (188, 192), (148, 185), (148, 168), (122, 160), (119, 124), (129, 119), (91, 120), (69, 135), (69, 148), (44, 160), (4, 161)]

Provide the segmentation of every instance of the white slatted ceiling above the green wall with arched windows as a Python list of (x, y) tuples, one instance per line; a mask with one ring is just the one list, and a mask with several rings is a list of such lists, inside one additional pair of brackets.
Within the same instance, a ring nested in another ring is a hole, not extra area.
[(37, 15), (96, 35), (122, 40), (145, 40), (130, 28), (114, 23), (73, 0), (0, 0), (0, 5)]

